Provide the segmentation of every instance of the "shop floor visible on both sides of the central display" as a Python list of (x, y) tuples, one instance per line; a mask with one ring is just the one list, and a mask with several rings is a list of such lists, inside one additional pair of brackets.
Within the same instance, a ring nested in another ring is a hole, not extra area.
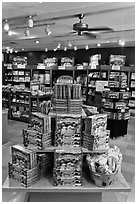
[[(27, 123), (7, 120), (3, 124), (6, 131), (6, 143), (2, 145), (2, 182), (7, 177), (7, 162), (10, 160), (10, 146), (22, 143), (22, 129)], [(4, 132), (3, 131), (3, 132)], [(5, 133), (3, 133), (3, 136)], [(131, 117), (128, 124), (128, 134), (125, 137), (118, 137), (110, 140), (110, 144), (117, 145), (122, 154), (122, 174), (131, 186), (130, 193), (103, 193), (103, 202), (135, 202), (135, 117)], [(6, 193), (6, 196), (8, 194)], [(10, 196), (10, 195), (9, 195)], [(3, 196), (4, 197), (4, 196)]]

